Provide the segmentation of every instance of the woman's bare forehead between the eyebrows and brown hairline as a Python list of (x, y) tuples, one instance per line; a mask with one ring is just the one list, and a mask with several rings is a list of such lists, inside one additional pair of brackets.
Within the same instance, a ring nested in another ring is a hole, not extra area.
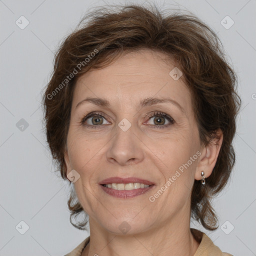
[(167, 96), (188, 111), (190, 93), (183, 79), (169, 75), (174, 67), (162, 52), (126, 52), (108, 66), (81, 75), (75, 84), (73, 105), (85, 97), (103, 97), (122, 107), (142, 98)]

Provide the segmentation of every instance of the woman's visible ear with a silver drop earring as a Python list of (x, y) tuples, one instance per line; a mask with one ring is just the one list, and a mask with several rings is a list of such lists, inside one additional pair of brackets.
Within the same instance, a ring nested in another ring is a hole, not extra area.
[(194, 178), (196, 180), (202, 179), (201, 171), (204, 171), (204, 177), (207, 178), (217, 161), (218, 153), (221, 147), (223, 141), (223, 132), (221, 129), (218, 129), (216, 131), (215, 138), (211, 139), (211, 141), (208, 143), (208, 145), (201, 148), (200, 152), (200, 158), (197, 162), (196, 171)]

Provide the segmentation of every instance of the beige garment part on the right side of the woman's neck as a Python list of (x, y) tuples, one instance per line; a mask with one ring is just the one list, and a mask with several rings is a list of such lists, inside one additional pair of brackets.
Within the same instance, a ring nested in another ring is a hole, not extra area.
[(199, 230), (196, 230), (196, 232), (197, 234), (201, 233), (201, 241), (194, 256), (233, 256), (227, 252), (222, 252), (205, 233)]

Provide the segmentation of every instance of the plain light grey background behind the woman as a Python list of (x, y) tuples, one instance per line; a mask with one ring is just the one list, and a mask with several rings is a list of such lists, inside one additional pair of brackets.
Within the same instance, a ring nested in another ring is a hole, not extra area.
[[(125, 2), (132, 1), (107, 3)], [(157, 2), (161, 6), (163, 1)], [(174, 4), (192, 11), (217, 32), (239, 76), (242, 98), (234, 139), (236, 165), (227, 187), (213, 200), (219, 228), (209, 232), (199, 224), (192, 226), (208, 234), (222, 251), (256, 255), (256, 1), (164, 2), (166, 7)], [(63, 255), (88, 235), (69, 223), (69, 187), (54, 172), (40, 102), (59, 42), (74, 29), (88, 7), (101, 5), (105, 5), (102, 0), (0, 0), (1, 256)], [(15, 23), (21, 15), (29, 21), (24, 29)], [(229, 29), (220, 23), (226, 15), (234, 21)], [(23, 130), (21, 118), (28, 123)], [(16, 225), (19, 231), (25, 228), (21, 220), (29, 226), (24, 234), (15, 229)]]

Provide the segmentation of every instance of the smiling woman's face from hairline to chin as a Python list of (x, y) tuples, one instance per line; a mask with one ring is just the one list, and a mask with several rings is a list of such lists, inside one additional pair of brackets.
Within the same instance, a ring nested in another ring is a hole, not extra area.
[(102, 230), (138, 233), (189, 220), (199, 134), (189, 90), (165, 57), (129, 52), (75, 85), (67, 174)]

